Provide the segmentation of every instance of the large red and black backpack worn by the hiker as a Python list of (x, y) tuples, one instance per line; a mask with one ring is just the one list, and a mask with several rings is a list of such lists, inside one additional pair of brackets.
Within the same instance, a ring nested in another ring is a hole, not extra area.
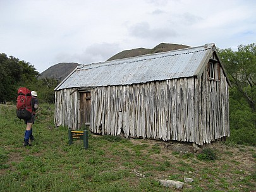
[(18, 89), (16, 107), (16, 113), (19, 119), (27, 120), (32, 116), (32, 95), (28, 88), (21, 87)]

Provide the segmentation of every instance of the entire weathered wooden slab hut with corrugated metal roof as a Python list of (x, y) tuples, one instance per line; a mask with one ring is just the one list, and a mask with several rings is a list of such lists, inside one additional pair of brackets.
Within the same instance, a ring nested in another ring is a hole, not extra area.
[(203, 145), (229, 136), (214, 44), (78, 66), (55, 88), (56, 126)]

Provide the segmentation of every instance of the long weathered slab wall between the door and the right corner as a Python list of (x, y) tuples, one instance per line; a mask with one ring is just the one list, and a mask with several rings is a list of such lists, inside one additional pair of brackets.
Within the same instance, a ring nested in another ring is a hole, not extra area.
[(92, 131), (102, 135), (195, 141), (193, 78), (92, 91)]

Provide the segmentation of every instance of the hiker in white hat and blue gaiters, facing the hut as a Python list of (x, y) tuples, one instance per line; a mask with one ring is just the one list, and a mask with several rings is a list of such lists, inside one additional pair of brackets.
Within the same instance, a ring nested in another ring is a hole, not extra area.
[(33, 135), (33, 129), (32, 129), (32, 125), (35, 122), (35, 111), (37, 111), (37, 109), (39, 108), (39, 101), (37, 100), (37, 92), (32, 91), (31, 92), (32, 95), (32, 116), (30, 117), (30, 119), (25, 120), (25, 124), (27, 124), (26, 126), (26, 131), (25, 131), (25, 135), (24, 135), (24, 143), (23, 146), (32, 146), (31, 143), (29, 143), (31, 141), (34, 141), (34, 135)]

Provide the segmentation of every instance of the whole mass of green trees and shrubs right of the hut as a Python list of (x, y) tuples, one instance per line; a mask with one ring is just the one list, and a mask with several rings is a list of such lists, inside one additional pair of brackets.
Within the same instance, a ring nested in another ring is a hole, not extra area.
[(239, 45), (238, 51), (219, 50), (228, 73), (229, 119), (231, 138), (238, 144), (256, 146), (256, 47), (255, 44)]

